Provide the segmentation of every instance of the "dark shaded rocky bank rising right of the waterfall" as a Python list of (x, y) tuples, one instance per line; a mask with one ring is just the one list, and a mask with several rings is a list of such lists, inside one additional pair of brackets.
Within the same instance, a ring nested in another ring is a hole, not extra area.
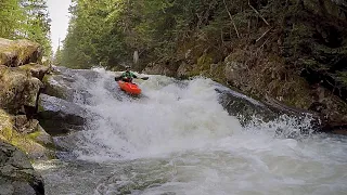
[(262, 101), (317, 112), (326, 131), (346, 129), (346, 1), (250, 0), (237, 5), (246, 8), (233, 15), (230, 30), (237, 36), (221, 29), (218, 44), (208, 35), (191, 36), (172, 58), (149, 64), (144, 72), (203, 75)]

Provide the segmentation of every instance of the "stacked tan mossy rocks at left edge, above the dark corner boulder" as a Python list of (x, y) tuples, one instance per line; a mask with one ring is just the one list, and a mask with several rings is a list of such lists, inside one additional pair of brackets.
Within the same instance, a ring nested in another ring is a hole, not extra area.
[(48, 66), (41, 65), (41, 47), (28, 40), (0, 39), (0, 140), (31, 158), (51, 158), (51, 136), (35, 115)]

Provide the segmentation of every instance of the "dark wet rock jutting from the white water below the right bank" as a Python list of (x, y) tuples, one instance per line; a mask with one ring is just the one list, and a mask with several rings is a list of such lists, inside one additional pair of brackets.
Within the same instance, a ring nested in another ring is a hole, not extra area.
[[(278, 129), (277, 134), (285, 138), (299, 138), (304, 134), (310, 134), (313, 131), (322, 131), (321, 118), (316, 113), (309, 113), (305, 109), (290, 107), (280, 102), (267, 96), (265, 102), (259, 102), (244, 94), (237, 93), (227, 88), (216, 89), (219, 93), (219, 102), (223, 108), (235, 116), (242, 126), (247, 126), (256, 120), (262, 122), (273, 121), (286, 116), (296, 120), (297, 123), (306, 123), (308, 126), (298, 126), (299, 131), (286, 132), (285, 129)], [(287, 120), (286, 118), (285, 120)]]

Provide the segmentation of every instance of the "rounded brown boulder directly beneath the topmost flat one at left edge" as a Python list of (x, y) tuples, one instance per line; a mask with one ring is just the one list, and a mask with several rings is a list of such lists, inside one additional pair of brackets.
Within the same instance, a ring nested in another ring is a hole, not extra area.
[(37, 106), (42, 82), (24, 69), (0, 66), (0, 108), (10, 114), (27, 113)]

